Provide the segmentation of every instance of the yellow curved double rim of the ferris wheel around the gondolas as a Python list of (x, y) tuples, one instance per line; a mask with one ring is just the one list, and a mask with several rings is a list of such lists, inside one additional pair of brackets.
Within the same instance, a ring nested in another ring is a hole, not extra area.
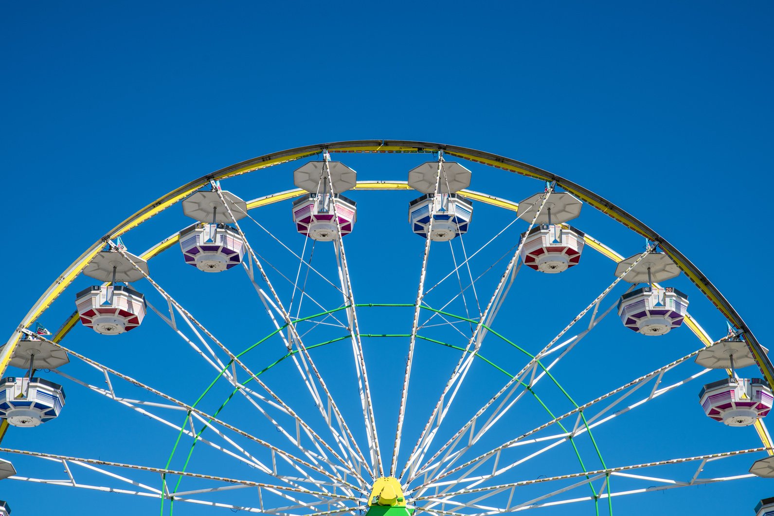
[[(132, 214), (131, 216), (127, 217), (125, 220), (123, 220), (120, 224), (118, 224), (116, 227), (114, 227), (108, 234), (106, 234), (104, 237), (102, 237), (99, 241), (95, 242), (91, 245), (90, 248), (87, 249), (87, 251), (84, 252), (83, 255), (80, 255), (79, 258), (77, 258), (76, 261), (74, 261), (63, 273), (60, 275), (59, 278), (55, 282), (53, 282), (52, 285), (48, 289), (46, 289), (46, 292), (43, 292), (43, 296), (40, 296), (40, 298), (37, 300), (37, 302), (33, 305), (31, 309), (29, 309), (29, 312), (24, 316), (22, 321), (19, 323), (19, 328), (26, 328), (30, 326), (32, 323), (34, 323), (39, 316), (45, 312), (45, 310), (50, 306), (50, 304), (54, 301), (54, 299), (57, 299), (57, 297), (60, 296), (60, 294), (64, 291), (64, 289), (67, 289), (67, 286), (70, 285), (71, 282), (74, 281), (74, 279), (77, 277), (77, 275), (80, 274), (80, 272), (84, 269), (84, 267), (91, 261), (94, 256), (97, 255), (99, 251), (104, 247), (104, 244), (108, 240), (113, 240), (117, 237), (122, 236), (122, 234), (125, 234), (127, 231), (132, 230), (132, 228), (139, 226), (139, 224), (142, 224), (146, 222), (146, 220), (149, 220), (150, 218), (154, 217), (155, 215), (161, 213), (163, 210), (166, 210), (166, 208), (172, 206), (173, 204), (179, 202), (180, 200), (183, 200), (183, 198), (189, 196), (191, 193), (194, 193), (196, 190), (199, 190), (202, 186), (209, 183), (211, 180), (220, 180), (220, 179), (228, 179), (229, 177), (239, 176), (241, 174), (254, 172), (255, 170), (265, 169), (270, 166), (279, 165), (280, 163), (290, 162), (294, 161), (296, 159), (302, 159), (305, 157), (310, 157), (313, 155), (317, 155), (320, 152), (323, 152), (324, 150), (328, 150), (330, 152), (386, 152), (386, 153), (416, 153), (416, 152), (437, 152), (437, 151), (443, 151), (446, 155), (453, 155), (457, 156), (462, 159), (467, 159), (468, 161), (472, 162), (478, 162), (484, 165), (493, 166), (497, 169), (503, 169), (507, 170), (512, 173), (519, 173), (523, 176), (529, 176), (533, 177), (535, 179), (543, 179), (545, 181), (555, 181), (558, 186), (561, 186), (564, 190), (567, 190), (570, 193), (573, 193), (575, 196), (577, 196), (580, 200), (583, 200), (585, 203), (589, 204), (590, 206), (600, 210), (602, 213), (608, 215), (608, 217), (613, 218), (614, 220), (617, 220), (621, 224), (623, 224), (625, 227), (628, 227), (632, 231), (635, 231), (638, 234), (641, 234), (643, 237), (648, 238), (651, 241), (656, 241), (659, 243), (659, 247), (662, 248), (664, 252), (666, 252), (667, 255), (672, 258), (672, 260), (676, 263), (676, 265), (680, 268), (681, 271), (690, 279), (691, 282), (694, 283), (694, 285), (697, 286), (697, 288), (704, 294), (704, 296), (707, 297), (707, 299), (710, 300), (714, 304), (714, 306), (717, 307), (718, 310), (720, 310), (721, 313), (724, 314), (728, 318), (731, 323), (733, 323), (737, 328), (742, 330), (745, 335), (745, 342), (748, 343), (748, 347), (752, 351), (753, 356), (755, 357), (755, 361), (758, 363), (759, 368), (764, 375), (766, 381), (769, 382), (769, 385), (774, 385), (774, 367), (772, 367), (771, 362), (769, 361), (769, 358), (763, 353), (762, 347), (758, 340), (755, 339), (755, 336), (753, 335), (752, 331), (749, 330), (748, 326), (745, 324), (744, 320), (741, 319), (741, 316), (736, 312), (736, 310), (731, 306), (731, 303), (729, 303), (724, 296), (722, 296), (721, 292), (717, 290), (717, 288), (712, 285), (712, 283), (704, 276), (700, 270), (691, 263), (685, 256), (683, 256), (680, 251), (677, 251), (676, 248), (674, 248), (673, 245), (671, 245), (668, 241), (663, 239), (663, 237), (660, 237), (659, 234), (657, 234), (655, 231), (652, 231), (650, 227), (646, 226), (646, 224), (643, 224), (640, 220), (636, 219), (635, 217), (632, 217), (632, 215), (625, 212), (625, 210), (622, 210), (621, 208), (615, 206), (615, 204), (609, 202), (608, 200), (605, 200), (603, 197), (598, 196), (597, 194), (591, 192), (591, 190), (587, 190), (584, 187), (577, 185), (576, 183), (572, 183), (571, 181), (564, 179), (563, 177), (556, 176), (555, 174), (549, 173), (546, 170), (539, 169), (535, 166), (528, 165), (523, 162), (519, 162), (515, 159), (509, 159), (505, 158), (500, 155), (491, 154), (489, 152), (482, 152), (475, 149), (468, 149), (465, 147), (459, 147), (455, 145), (445, 145), (445, 144), (438, 144), (438, 143), (430, 143), (430, 142), (413, 142), (413, 141), (387, 141), (387, 140), (366, 140), (366, 141), (351, 141), (351, 142), (331, 142), (331, 143), (325, 143), (325, 144), (319, 144), (319, 145), (308, 145), (305, 147), (298, 147), (296, 149), (289, 149), (283, 152), (276, 152), (272, 154), (262, 155), (254, 159), (248, 159), (247, 161), (236, 163), (235, 165), (231, 165), (228, 167), (225, 167), (224, 169), (217, 170), (214, 173), (207, 174), (206, 176), (202, 176), (199, 179), (194, 179), (194, 181), (191, 181), (190, 183), (187, 183), (183, 186), (180, 186), (176, 190), (173, 190), (170, 193), (167, 193), (165, 196), (159, 197), (156, 201), (153, 203), (150, 203), (146, 207), (143, 207), (141, 210), (137, 211), (135, 214)], [(358, 185), (359, 186), (359, 185)], [(403, 190), (408, 189), (408, 187), (405, 185), (405, 183), (400, 182), (392, 182), (392, 183), (382, 183), (382, 182), (372, 182), (368, 183), (368, 186), (363, 186), (362, 190)], [(506, 209), (511, 209), (511, 206), (514, 203), (509, 203), (509, 201), (504, 200), (497, 200), (495, 197), (487, 196), (486, 194), (482, 193), (474, 193), (478, 196), (471, 196), (471, 198), (475, 200), (479, 200), (481, 202), (485, 203), (491, 203), (495, 206), (501, 206), (505, 207)], [(294, 196), (298, 196), (300, 193), (298, 190), (289, 190), (287, 192), (283, 193), (277, 193), (273, 196), (269, 196), (267, 198), (263, 198), (265, 200), (265, 204), (273, 203), (273, 202), (279, 202), (281, 200), (286, 200), (289, 198), (293, 198)], [(471, 193), (467, 193), (467, 195), (471, 195)], [(498, 202), (503, 202), (502, 205), (498, 204)], [(257, 205), (254, 207), (258, 207)], [(142, 255), (142, 258), (146, 258), (146, 255), (152, 256), (156, 255), (159, 252), (163, 251), (164, 248), (169, 248), (170, 245), (172, 245), (174, 242), (170, 241), (170, 239), (167, 239), (166, 241), (163, 241), (162, 243), (159, 243), (162, 247), (159, 247), (159, 244), (157, 244), (154, 248), (150, 249), (149, 251), (146, 251), (144, 255)], [(591, 241), (587, 241), (588, 244), (591, 245), (592, 248), (594, 248), (597, 251), (602, 252), (602, 254), (607, 255), (608, 258), (611, 258), (613, 260), (620, 259), (620, 257), (616, 257), (615, 251), (611, 251), (611, 249), (604, 246), (604, 244), (601, 244), (598, 241), (594, 241), (591, 239)], [(147, 259), (147, 258), (146, 258)], [(687, 322), (689, 321), (688, 318), (686, 319)], [(64, 335), (67, 334), (67, 332), (74, 326), (74, 323), (77, 322), (76, 320), (70, 320), (65, 323), (62, 328), (60, 328), (59, 331), (57, 331), (57, 334), (54, 336), (55, 340), (61, 339), (64, 337)], [(688, 326), (691, 330), (694, 331), (694, 333), (697, 334), (697, 336), (704, 342), (705, 345), (707, 345), (708, 337), (706, 333), (704, 333), (703, 330), (698, 332), (697, 330), (700, 328), (694, 320), (690, 320), (688, 322)], [(694, 326), (696, 326), (697, 329), (694, 329)], [(16, 344), (19, 342), (19, 338), (21, 337), (21, 334), (18, 330), (15, 330), (11, 337), (9, 338), (6, 345), (2, 348), (2, 353), (0, 353), (0, 376), (5, 373), (5, 369), (8, 367), (8, 364), (11, 360), (11, 356), (13, 354), (13, 351), (15, 350)], [(58, 340), (57, 340), (58, 341)], [(756, 428), (759, 431), (759, 435), (762, 438), (763, 444), (765, 446), (771, 447), (771, 439), (769, 438), (768, 432), (765, 431), (765, 426), (762, 425), (762, 422), (759, 420), (760, 427), (756, 423)], [(2, 425), (0, 425), (0, 439), (2, 439), (2, 435), (5, 433), (5, 429), (7, 428), (7, 423), (3, 422)], [(774, 451), (769, 450), (769, 454), (774, 454)]]

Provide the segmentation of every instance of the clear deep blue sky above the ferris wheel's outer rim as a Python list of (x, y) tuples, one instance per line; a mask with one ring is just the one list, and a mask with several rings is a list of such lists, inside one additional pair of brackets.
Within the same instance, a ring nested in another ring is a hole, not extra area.
[[(89, 244), (194, 177), (297, 145), (398, 138), (507, 155), (608, 197), (772, 347), (772, 22), (769, 2), (7, 3), (0, 321), (11, 333)], [(774, 494), (750, 485), (718, 506), (752, 514)], [(21, 493), (0, 484), (14, 514), (45, 514)], [(659, 510), (690, 514), (673, 507)]]

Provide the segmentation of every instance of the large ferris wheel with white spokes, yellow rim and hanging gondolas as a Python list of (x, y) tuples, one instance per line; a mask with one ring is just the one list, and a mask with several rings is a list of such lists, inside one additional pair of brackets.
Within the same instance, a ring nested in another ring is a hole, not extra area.
[(583, 186), (454, 145), (194, 179), (9, 330), (0, 515), (650, 514), (774, 477), (774, 367), (697, 267)]

